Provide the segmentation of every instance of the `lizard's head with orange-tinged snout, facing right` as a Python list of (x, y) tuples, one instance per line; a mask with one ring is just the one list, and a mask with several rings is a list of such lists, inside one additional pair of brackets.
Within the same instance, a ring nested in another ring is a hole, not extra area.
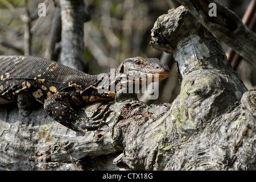
[(163, 80), (169, 76), (170, 69), (167, 65), (160, 63), (157, 58), (131, 57), (124, 60), (118, 67), (117, 73), (124, 73), (129, 76), (138, 76), (143, 78), (152, 78), (154, 82), (155, 77), (158, 80)]

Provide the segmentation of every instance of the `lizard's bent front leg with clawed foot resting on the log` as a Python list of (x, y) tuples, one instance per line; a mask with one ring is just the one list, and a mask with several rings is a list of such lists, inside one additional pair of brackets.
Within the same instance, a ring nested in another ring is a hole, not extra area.
[(106, 117), (100, 118), (98, 115), (94, 118), (80, 117), (72, 106), (75, 106), (75, 101), (67, 92), (57, 92), (44, 102), (47, 114), (73, 131), (84, 134), (86, 130), (97, 130), (104, 124)]

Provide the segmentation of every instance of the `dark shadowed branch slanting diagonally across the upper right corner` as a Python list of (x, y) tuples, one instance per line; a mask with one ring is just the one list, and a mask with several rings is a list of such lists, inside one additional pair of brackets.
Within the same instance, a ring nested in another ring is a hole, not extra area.
[[(256, 34), (236, 13), (214, 0), (178, 0), (216, 38), (224, 41), (243, 58), (256, 66)], [(209, 16), (210, 3), (216, 5), (216, 16)]]

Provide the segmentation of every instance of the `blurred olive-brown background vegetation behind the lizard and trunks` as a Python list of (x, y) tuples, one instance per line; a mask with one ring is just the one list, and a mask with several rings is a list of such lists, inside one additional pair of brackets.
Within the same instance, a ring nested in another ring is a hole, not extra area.
[[(38, 4), (46, 4), (46, 16), (38, 16)], [(223, 0), (222, 5), (242, 18), (250, 0)], [(27, 5), (27, 6), (26, 6)], [(180, 92), (180, 77), (172, 55), (151, 48), (151, 29), (158, 16), (179, 6), (175, 0), (85, 0), (92, 19), (84, 24), (84, 59), (89, 73), (96, 75), (117, 68), (127, 57), (158, 57), (170, 67), (168, 79), (161, 81), (159, 99), (148, 103), (171, 103)], [(24, 14), (31, 16), (31, 55), (44, 57), (55, 11), (52, 0), (0, 0), (0, 55), (24, 54)], [(221, 42), (221, 41), (220, 41)], [(227, 51), (228, 47), (221, 42)], [(0, 65), (1, 66), (1, 65)], [(255, 67), (242, 60), (237, 72), (247, 89), (255, 89)]]

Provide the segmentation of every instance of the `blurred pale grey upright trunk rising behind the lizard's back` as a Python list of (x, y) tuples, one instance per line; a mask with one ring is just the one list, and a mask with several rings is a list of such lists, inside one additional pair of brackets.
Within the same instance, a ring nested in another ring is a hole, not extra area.
[(61, 9), (61, 52), (60, 63), (69, 67), (88, 71), (88, 63), (83, 58), (84, 22), (90, 19), (83, 0), (62, 0)]

